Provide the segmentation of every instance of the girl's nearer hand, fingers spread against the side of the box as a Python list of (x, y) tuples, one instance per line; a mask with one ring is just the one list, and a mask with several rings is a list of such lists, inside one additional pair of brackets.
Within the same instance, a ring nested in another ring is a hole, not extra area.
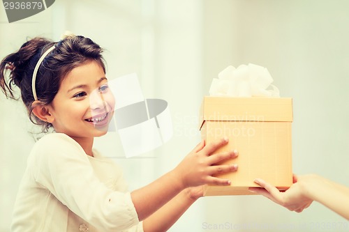
[(228, 144), (228, 139), (221, 139), (211, 144), (202, 140), (191, 153), (173, 170), (183, 188), (198, 185), (230, 185), (230, 180), (214, 177), (218, 173), (237, 171), (237, 164), (219, 164), (223, 160), (237, 157), (236, 150), (215, 153), (218, 148)]

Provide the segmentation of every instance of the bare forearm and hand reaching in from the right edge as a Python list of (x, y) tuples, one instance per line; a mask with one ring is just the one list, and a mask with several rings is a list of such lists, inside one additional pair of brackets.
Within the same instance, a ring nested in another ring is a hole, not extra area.
[(294, 176), (294, 183), (285, 192), (279, 192), (276, 187), (265, 180), (256, 179), (255, 183), (264, 189), (251, 188), (257, 192), (285, 206), (289, 210), (302, 212), (313, 201), (318, 201), (339, 215), (349, 219), (349, 187), (339, 185), (315, 174)]

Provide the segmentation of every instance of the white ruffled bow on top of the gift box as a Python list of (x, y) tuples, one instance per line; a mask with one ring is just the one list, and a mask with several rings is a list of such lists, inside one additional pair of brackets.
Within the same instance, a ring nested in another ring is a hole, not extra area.
[(272, 85), (273, 81), (267, 68), (260, 65), (248, 63), (237, 68), (229, 65), (212, 80), (209, 95), (279, 98), (279, 88)]

